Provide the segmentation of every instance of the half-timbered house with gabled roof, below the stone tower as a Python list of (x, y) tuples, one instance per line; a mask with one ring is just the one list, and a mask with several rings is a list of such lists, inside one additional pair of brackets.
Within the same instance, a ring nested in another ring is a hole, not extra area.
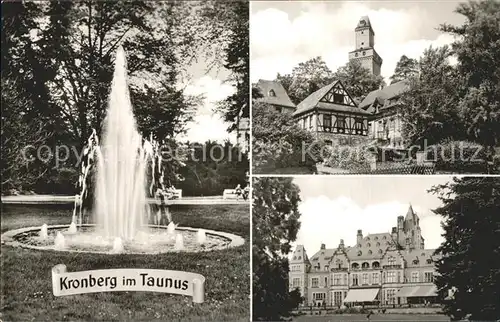
[(358, 144), (368, 137), (369, 113), (360, 109), (341, 81), (309, 95), (293, 113), (298, 125), (327, 144)]

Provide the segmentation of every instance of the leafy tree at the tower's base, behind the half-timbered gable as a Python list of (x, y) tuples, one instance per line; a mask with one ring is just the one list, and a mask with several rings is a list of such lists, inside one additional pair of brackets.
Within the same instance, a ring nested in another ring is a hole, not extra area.
[(334, 78), (342, 81), (352, 98), (361, 102), (368, 93), (377, 90), (384, 84), (382, 76), (375, 76), (357, 60), (350, 60), (340, 67)]

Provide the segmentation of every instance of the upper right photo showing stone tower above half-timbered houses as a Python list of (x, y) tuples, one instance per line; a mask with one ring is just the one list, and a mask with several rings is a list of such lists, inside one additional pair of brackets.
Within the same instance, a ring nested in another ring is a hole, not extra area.
[(251, 2), (255, 174), (498, 174), (500, 3)]

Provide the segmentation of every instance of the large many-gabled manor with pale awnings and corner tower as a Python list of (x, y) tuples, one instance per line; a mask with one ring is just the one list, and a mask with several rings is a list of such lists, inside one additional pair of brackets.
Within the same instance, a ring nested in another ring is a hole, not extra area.
[(391, 232), (363, 235), (354, 246), (322, 244), (309, 257), (298, 245), (290, 260), (289, 289), (305, 306), (402, 305), (434, 302), (434, 249), (425, 249), (420, 219), (410, 206)]

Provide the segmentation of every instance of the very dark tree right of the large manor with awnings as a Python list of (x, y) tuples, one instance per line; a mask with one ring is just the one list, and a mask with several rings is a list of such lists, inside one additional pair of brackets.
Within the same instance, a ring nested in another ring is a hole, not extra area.
[(433, 187), (443, 205), (445, 241), (436, 250), (435, 283), (453, 320), (500, 317), (500, 179), (454, 178)]

